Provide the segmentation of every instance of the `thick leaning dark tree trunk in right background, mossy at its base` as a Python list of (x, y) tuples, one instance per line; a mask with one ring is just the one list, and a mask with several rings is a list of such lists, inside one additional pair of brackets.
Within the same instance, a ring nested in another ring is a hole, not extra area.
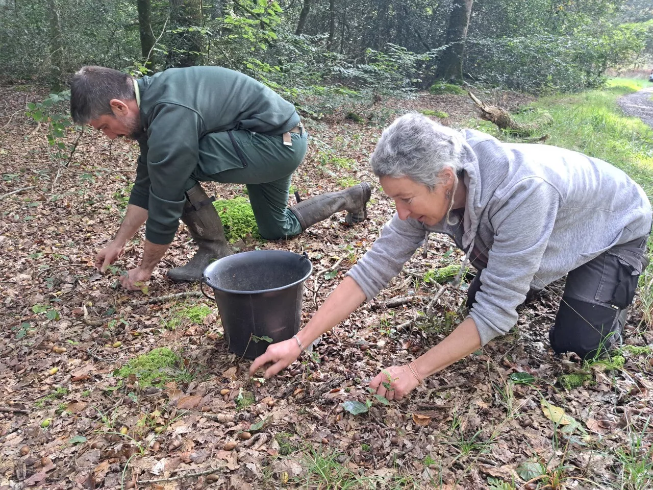
[(465, 53), (472, 4), (473, 0), (453, 0), (445, 42), (449, 46), (438, 63), (436, 78), (462, 80), (462, 57)]

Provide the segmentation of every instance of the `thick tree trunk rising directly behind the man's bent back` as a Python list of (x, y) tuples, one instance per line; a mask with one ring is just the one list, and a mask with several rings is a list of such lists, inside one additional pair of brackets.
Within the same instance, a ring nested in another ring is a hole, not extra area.
[(205, 50), (204, 36), (190, 27), (202, 25), (202, 0), (170, 0), (170, 20), (172, 25), (182, 30), (176, 34), (176, 42), (168, 54), (168, 64), (173, 67), (193, 67), (202, 64)]

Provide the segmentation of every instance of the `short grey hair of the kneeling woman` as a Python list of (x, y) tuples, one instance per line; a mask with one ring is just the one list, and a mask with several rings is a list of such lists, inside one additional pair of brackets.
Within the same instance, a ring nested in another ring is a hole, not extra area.
[(443, 169), (454, 178), (462, 170), (463, 142), (458, 131), (411, 112), (383, 130), (370, 165), (377, 177), (407, 177), (432, 191)]

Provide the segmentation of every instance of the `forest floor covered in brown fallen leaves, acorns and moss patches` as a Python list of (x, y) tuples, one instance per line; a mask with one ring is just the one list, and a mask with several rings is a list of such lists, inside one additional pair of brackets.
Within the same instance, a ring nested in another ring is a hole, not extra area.
[[(475, 93), (513, 111), (534, 102)], [(418, 357), (464, 318), (465, 285), (428, 281), (429, 270), (459, 264), (462, 253), (432, 235), (426, 258), (416, 253), (312, 353), (276, 378), (253, 380), (250, 361), (225, 346), (215, 303), (165, 277), (193, 254), (183, 227), (147, 295), (117, 281), (138, 263), (140, 234), (109, 274), (97, 274), (93, 257), (118, 229), (138, 148), (86, 129), (64, 166), (46, 125), (25, 117), (26, 103), (46, 95), (0, 87), (1, 489), (643, 489), (653, 481), (646, 300), (632, 308), (627, 345), (582, 365), (549, 349), (554, 284), (509, 335), (385, 405), (366, 381)], [(489, 130), (460, 95), (381, 101), (369, 110), (379, 123), (349, 122), (346, 110), (307, 118), (310, 150), (293, 186), (308, 197), (366, 180), (368, 220), (348, 227), (334, 216), (290, 240), (241, 244), (308, 253), (304, 319), (394, 212), (368, 158), (381, 125), (408, 110)], [(223, 199), (246, 195), (241, 186), (207, 187)], [(350, 414), (346, 401), (368, 412)]]

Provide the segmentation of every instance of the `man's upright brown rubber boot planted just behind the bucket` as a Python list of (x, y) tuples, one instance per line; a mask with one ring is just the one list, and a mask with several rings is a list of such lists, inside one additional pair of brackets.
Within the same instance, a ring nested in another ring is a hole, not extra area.
[(215, 199), (208, 197), (200, 184), (186, 193), (186, 199), (188, 203), (183, 210), (182, 221), (198, 250), (188, 263), (168, 270), (168, 278), (173, 282), (197, 282), (212, 261), (234, 253), (227, 243), (222, 221), (213, 205)]

